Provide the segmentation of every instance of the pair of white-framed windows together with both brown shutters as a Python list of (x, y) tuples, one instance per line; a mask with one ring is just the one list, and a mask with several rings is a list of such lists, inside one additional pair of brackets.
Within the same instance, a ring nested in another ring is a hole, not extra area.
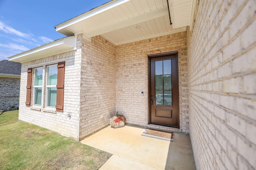
[[(45, 67), (46, 71), (43, 72), (43, 68)], [(28, 68), (27, 73), (26, 106), (30, 107), (31, 85), (34, 84), (34, 106), (56, 108), (56, 111), (63, 112), (65, 61), (54, 65), (34, 68), (34, 82), (32, 82), (32, 68)], [(42, 89), (46, 96), (42, 96), (44, 95), (42, 94)], [(45, 103), (42, 103), (42, 98), (46, 99), (43, 100)]]

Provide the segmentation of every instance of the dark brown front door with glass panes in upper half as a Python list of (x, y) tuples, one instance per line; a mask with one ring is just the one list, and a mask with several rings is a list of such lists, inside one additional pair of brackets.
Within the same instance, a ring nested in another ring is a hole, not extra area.
[(178, 127), (178, 53), (150, 57), (150, 123)]

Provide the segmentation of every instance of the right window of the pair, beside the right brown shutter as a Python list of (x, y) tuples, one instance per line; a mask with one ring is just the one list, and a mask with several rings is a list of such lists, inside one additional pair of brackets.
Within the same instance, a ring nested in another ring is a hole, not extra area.
[(56, 106), (57, 99), (57, 77), (58, 68), (57, 65), (47, 66), (47, 78), (46, 78), (46, 107)]

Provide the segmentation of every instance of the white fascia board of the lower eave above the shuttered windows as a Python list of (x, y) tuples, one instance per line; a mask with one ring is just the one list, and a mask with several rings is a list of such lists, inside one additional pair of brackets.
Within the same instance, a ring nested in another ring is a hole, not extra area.
[(52, 47), (62, 45), (62, 44), (66, 44), (70, 47), (75, 47), (75, 42), (74, 41), (75, 41), (75, 36), (74, 35), (70, 36), (70, 37), (65, 37), (65, 38), (62, 38), (62, 39), (58, 39), (56, 41), (52, 41), (51, 43), (36, 47), (34, 49), (25, 51), (23, 53), (13, 55), (11, 57), (8, 57), (8, 59), (9, 59), (9, 61), (14, 61), (16, 59), (21, 59), (22, 57), (26, 57), (28, 55), (32, 55), (32, 54), (38, 53), (40, 51), (47, 50), (47, 49), (50, 49)]

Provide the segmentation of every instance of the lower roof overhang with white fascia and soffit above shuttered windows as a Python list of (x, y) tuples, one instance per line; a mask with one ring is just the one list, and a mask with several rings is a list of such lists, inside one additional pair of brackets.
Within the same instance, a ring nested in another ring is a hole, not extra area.
[(75, 49), (75, 47), (75, 36), (64, 37), (23, 53), (13, 55), (8, 57), (8, 59), (9, 61), (24, 63), (36, 59), (42, 59), (51, 55), (72, 51)]

